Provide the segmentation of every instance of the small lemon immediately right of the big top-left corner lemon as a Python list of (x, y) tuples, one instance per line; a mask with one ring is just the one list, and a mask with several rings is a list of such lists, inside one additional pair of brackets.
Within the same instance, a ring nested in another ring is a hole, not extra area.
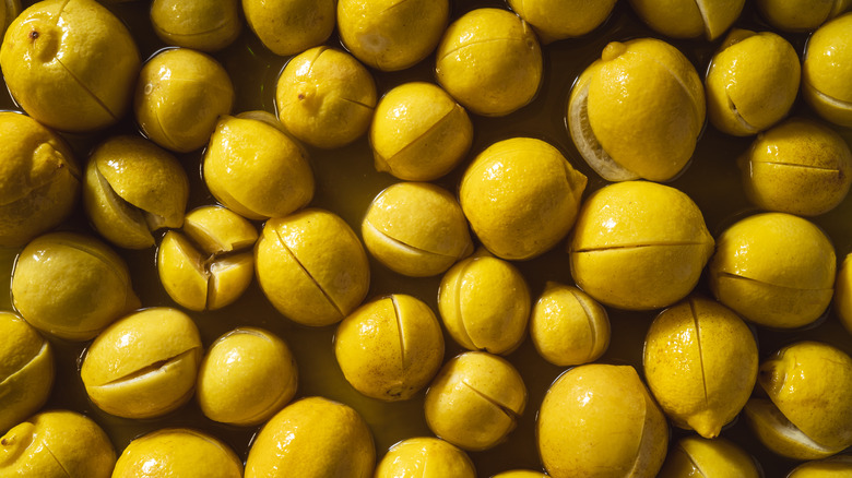
[(161, 51), (139, 73), (133, 111), (142, 132), (178, 153), (210, 140), (216, 121), (230, 113), (234, 85), (216, 60), (188, 48)]

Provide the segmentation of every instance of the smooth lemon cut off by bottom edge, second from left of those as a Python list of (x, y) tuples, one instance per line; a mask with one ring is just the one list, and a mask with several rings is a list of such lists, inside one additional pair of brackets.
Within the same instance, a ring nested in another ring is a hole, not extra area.
[(372, 433), (357, 411), (322, 397), (303, 398), (272, 417), (246, 461), (246, 478), (366, 478), (372, 475)]

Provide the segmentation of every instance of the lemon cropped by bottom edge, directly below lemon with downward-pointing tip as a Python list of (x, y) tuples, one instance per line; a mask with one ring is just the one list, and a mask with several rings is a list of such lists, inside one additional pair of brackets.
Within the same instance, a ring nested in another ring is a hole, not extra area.
[(668, 452), (660, 478), (759, 478), (755, 458), (723, 438), (686, 437)]

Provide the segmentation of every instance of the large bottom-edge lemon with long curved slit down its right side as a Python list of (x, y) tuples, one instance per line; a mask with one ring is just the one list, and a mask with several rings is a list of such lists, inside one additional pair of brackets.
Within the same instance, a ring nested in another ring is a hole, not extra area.
[(563, 373), (544, 396), (536, 435), (553, 478), (653, 477), (668, 445), (665, 416), (629, 366)]

